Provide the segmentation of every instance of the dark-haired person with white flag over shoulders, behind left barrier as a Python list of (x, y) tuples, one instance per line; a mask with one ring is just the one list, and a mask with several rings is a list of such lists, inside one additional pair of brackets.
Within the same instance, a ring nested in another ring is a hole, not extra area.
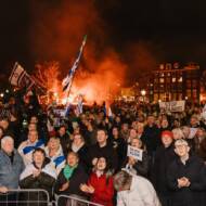
[[(49, 164), (50, 160), (46, 158), (46, 152), (42, 149), (36, 149), (33, 152), (33, 163), (27, 165), (20, 178), (20, 186), (22, 189), (43, 189), (52, 196), (52, 188), (56, 179), (54, 167)], [(30, 194), (30, 201), (46, 201), (42, 193)], [(37, 205), (37, 204), (29, 204)], [(41, 205), (41, 204), (39, 204)], [(42, 205), (47, 205), (43, 203)]]

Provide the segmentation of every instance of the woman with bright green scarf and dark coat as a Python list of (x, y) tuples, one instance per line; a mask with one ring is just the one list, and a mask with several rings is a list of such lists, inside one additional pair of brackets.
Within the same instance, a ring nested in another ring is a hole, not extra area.
[[(78, 198), (83, 198), (85, 193), (80, 190), (80, 185), (86, 183), (88, 176), (79, 164), (77, 153), (69, 152), (66, 159), (66, 165), (60, 172), (54, 191), (57, 195), (72, 195)], [(61, 198), (60, 205), (65, 205), (67, 199)], [(67, 206), (72, 203), (67, 202)]]

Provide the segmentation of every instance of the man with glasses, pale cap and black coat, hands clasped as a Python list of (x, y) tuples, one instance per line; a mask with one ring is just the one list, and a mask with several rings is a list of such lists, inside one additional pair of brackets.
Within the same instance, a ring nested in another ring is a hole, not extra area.
[(175, 142), (175, 152), (178, 158), (167, 170), (171, 206), (204, 206), (206, 172), (203, 160), (190, 154), (190, 146), (183, 139)]

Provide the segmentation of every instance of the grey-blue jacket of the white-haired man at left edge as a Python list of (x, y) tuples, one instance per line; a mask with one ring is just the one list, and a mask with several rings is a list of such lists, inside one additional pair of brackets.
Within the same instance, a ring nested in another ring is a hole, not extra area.
[(14, 150), (13, 163), (10, 157), (0, 150), (0, 186), (17, 189), (20, 175), (24, 170), (24, 163), (16, 150)]

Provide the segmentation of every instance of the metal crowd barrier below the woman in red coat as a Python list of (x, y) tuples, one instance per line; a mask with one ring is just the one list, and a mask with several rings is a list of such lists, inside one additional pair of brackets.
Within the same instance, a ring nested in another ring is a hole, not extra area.
[(56, 206), (104, 206), (87, 199), (79, 198), (75, 195), (59, 195)]

